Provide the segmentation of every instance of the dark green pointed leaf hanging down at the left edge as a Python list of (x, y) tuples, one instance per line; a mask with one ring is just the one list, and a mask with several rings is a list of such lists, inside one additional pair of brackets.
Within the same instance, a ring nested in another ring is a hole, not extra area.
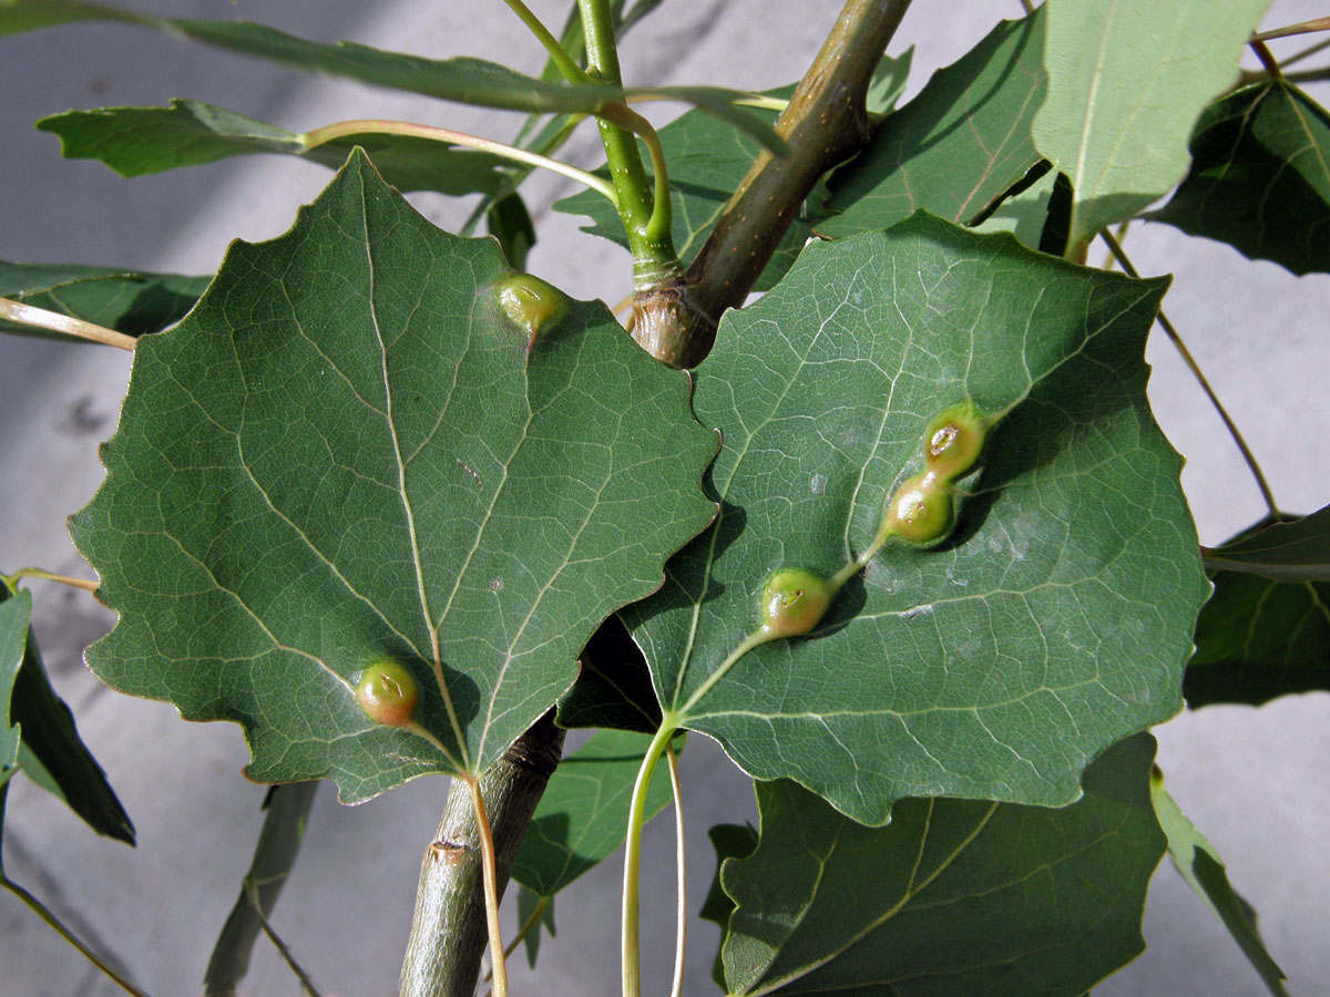
[[(11, 593), (0, 582), (0, 605), (11, 596), (23, 593)], [(73, 713), (51, 687), (31, 626), (9, 701), (9, 719), (23, 728), (19, 762), (32, 780), (63, 800), (98, 835), (133, 844), (134, 826), (78, 736)]]

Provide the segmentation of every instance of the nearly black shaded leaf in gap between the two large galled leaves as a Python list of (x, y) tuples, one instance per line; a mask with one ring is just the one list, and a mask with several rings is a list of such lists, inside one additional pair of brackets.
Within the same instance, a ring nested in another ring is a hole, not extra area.
[(583, 649), (577, 681), (559, 701), (560, 727), (605, 727), (654, 734), (661, 707), (646, 658), (618, 615), (602, 622)]

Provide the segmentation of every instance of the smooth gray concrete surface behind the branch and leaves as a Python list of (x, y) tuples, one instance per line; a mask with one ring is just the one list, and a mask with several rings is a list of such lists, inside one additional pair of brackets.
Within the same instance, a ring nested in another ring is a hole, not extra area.
[[(838, 0), (670, 0), (624, 48), (630, 81), (716, 82), (761, 89), (795, 78), (839, 8)], [(247, 16), (321, 40), (359, 41), (431, 56), (476, 55), (535, 70), (541, 52), (497, 0), (395, 0), (335, 4), (285, 0), (156, 0), (154, 12)], [(532, 7), (556, 23), (564, 0)], [(932, 69), (959, 57), (1016, 0), (916, 0), (898, 35), (915, 44), (915, 92)], [(1314, 0), (1277, 0), (1267, 25), (1325, 15)], [(1295, 51), (1298, 43), (1277, 52)], [(1319, 98), (1330, 94), (1322, 88)], [(162, 177), (122, 181), (105, 167), (64, 161), (55, 137), (31, 122), (68, 108), (165, 104), (193, 97), (291, 128), (350, 117), (403, 117), (507, 137), (517, 117), (440, 105), (387, 90), (302, 77), (293, 72), (120, 27), (72, 27), (0, 41), (0, 257), (210, 273), (231, 238), (282, 233), (298, 205), (329, 174), (279, 158), (250, 158)], [(664, 120), (669, 109), (652, 108)], [(587, 129), (568, 153), (598, 161)], [(540, 178), (529, 197), (541, 243), (535, 273), (579, 296), (617, 300), (628, 290), (626, 257), (581, 235), (577, 221), (552, 214), (568, 187)], [(440, 225), (466, 205), (416, 195)], [(1326, 306), (1330, 278), (1293, 279), (1225, 246), (1188, 239), (1166, 226), (1138, 226), (1128, 251), (1149, 274), (1173, 273), (1165, 307), (1261, 457), (1281, 504), (1306, 512), (1330, 493), (1330, 453), (1289, 460), (1290, 427), (1299, 440), (1330, 439)], [(1257, 518), (1261, 501), (1232, 444), (1169, 346), (1153, 342), (1152, 399), (1160, 423), (1188, 455), (1184, 484), (1205, 542)], [(96, 445), (116, 419), (128, 376), (112, 350), (0, 339), (0, 565), (41, 564), (85, 572), (64, 517), (92, 495), (101, 468)], [(80, 662), (81, 649), (110, 623), (92, 601), (57, 586), (35, 588), (39, 635), (59, 690), (106, 767), (140, 831), (140, 845), (94, 839), (59, 803), (20, 778), (9, 794), (5, 863), (101, 950), (158, 997), (200, 990), (211, 941), (230, 907), (258, 830), (262, 788), (239, 776), (246, 752), (230, 724), (186, 724), (162, 703), (101, 689)], [(1325, 815), (1330, 786), (1326, 695), (1283, 699), (1262, 710), (1209, 709), (1161, 727), (1160, 762), (1184, 810), (1210, 836), (1236, 885), (1262, 915), (1270, 949), (1294, 994), (1325, 992), (1327, 885)], [(713, 871), (705, 831), (717, 820), (753, 816), (751, 794), (720, 750), (693, 738), (684, 760), (692, 904)], [(444, 782), (424, 779), (368, 804), (347, 808), (321, 794), (305, 853), (275, 921), (329, 994), (395, 992), (419, 855), (434, 828)], [(672, 830), (648, 828), (652, 879), (645, 973), (650, 992), (669, 976)], [(618, 867), (612, 860), (557, 903), (559, 937), (541, 952), (541, 973), (515, 960), (513, 992), (612, 993), (617, 986)], [(511, 916), (508, 919), (511, 925)], [(511, 931), (511, 928), (509, 928)], [(1149, 950), (1096, 989), (1136, 994), (1261, 994), (1222, 928), (1192, 897), (1168, 863), (1145, 917)], [(688, 993), (714, 993), (709, 980), (716, 931), (694, 929)], [(298, 986), (262, 945), (247, 981), (254, 994), (295, 994)], [(0, 897), (0, 994), (4, 997), (118, 993), (32, 919)]]

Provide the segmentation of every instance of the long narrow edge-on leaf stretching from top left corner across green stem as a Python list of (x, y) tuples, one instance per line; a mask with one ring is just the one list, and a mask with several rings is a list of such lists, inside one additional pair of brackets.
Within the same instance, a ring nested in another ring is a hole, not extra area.
[(775, 132), (735, 100), (747, 94), (716, 86), (637, 86), (553, 84), (479, 58), (424, 58), (383, 52), (351, 41), (327, 45), (250, 21), (153, 17), (80, 0), (0, 0), (0, 37), (68, 21), (121, 21), (156, 28), (205, 45), (348, 80), (391, 86), (427, 97), (503, 110), (593, 113), (625, 97), (678, 100), (743, 129), (774, 152), (785, 152)]

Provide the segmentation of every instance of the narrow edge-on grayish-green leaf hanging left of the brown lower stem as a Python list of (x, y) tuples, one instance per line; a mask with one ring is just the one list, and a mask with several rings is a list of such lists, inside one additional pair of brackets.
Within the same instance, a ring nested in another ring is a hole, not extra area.
[(263, 827), (254, 844), (254, 857), (241, 881), (241, 895), (226, 916), (222, 932), (213, 945), (203, 973), (203, 989), (209, 994), (234, 994), (249, 972), (254, 942), (262, 932), (262, 920), (254, 909), (250, 888), (258, 900), (262, 916), (269, 916), (282, 895), (282, 887), (301, 853), (306, 820), (317, 782), (274, 786), (263, 796)]

